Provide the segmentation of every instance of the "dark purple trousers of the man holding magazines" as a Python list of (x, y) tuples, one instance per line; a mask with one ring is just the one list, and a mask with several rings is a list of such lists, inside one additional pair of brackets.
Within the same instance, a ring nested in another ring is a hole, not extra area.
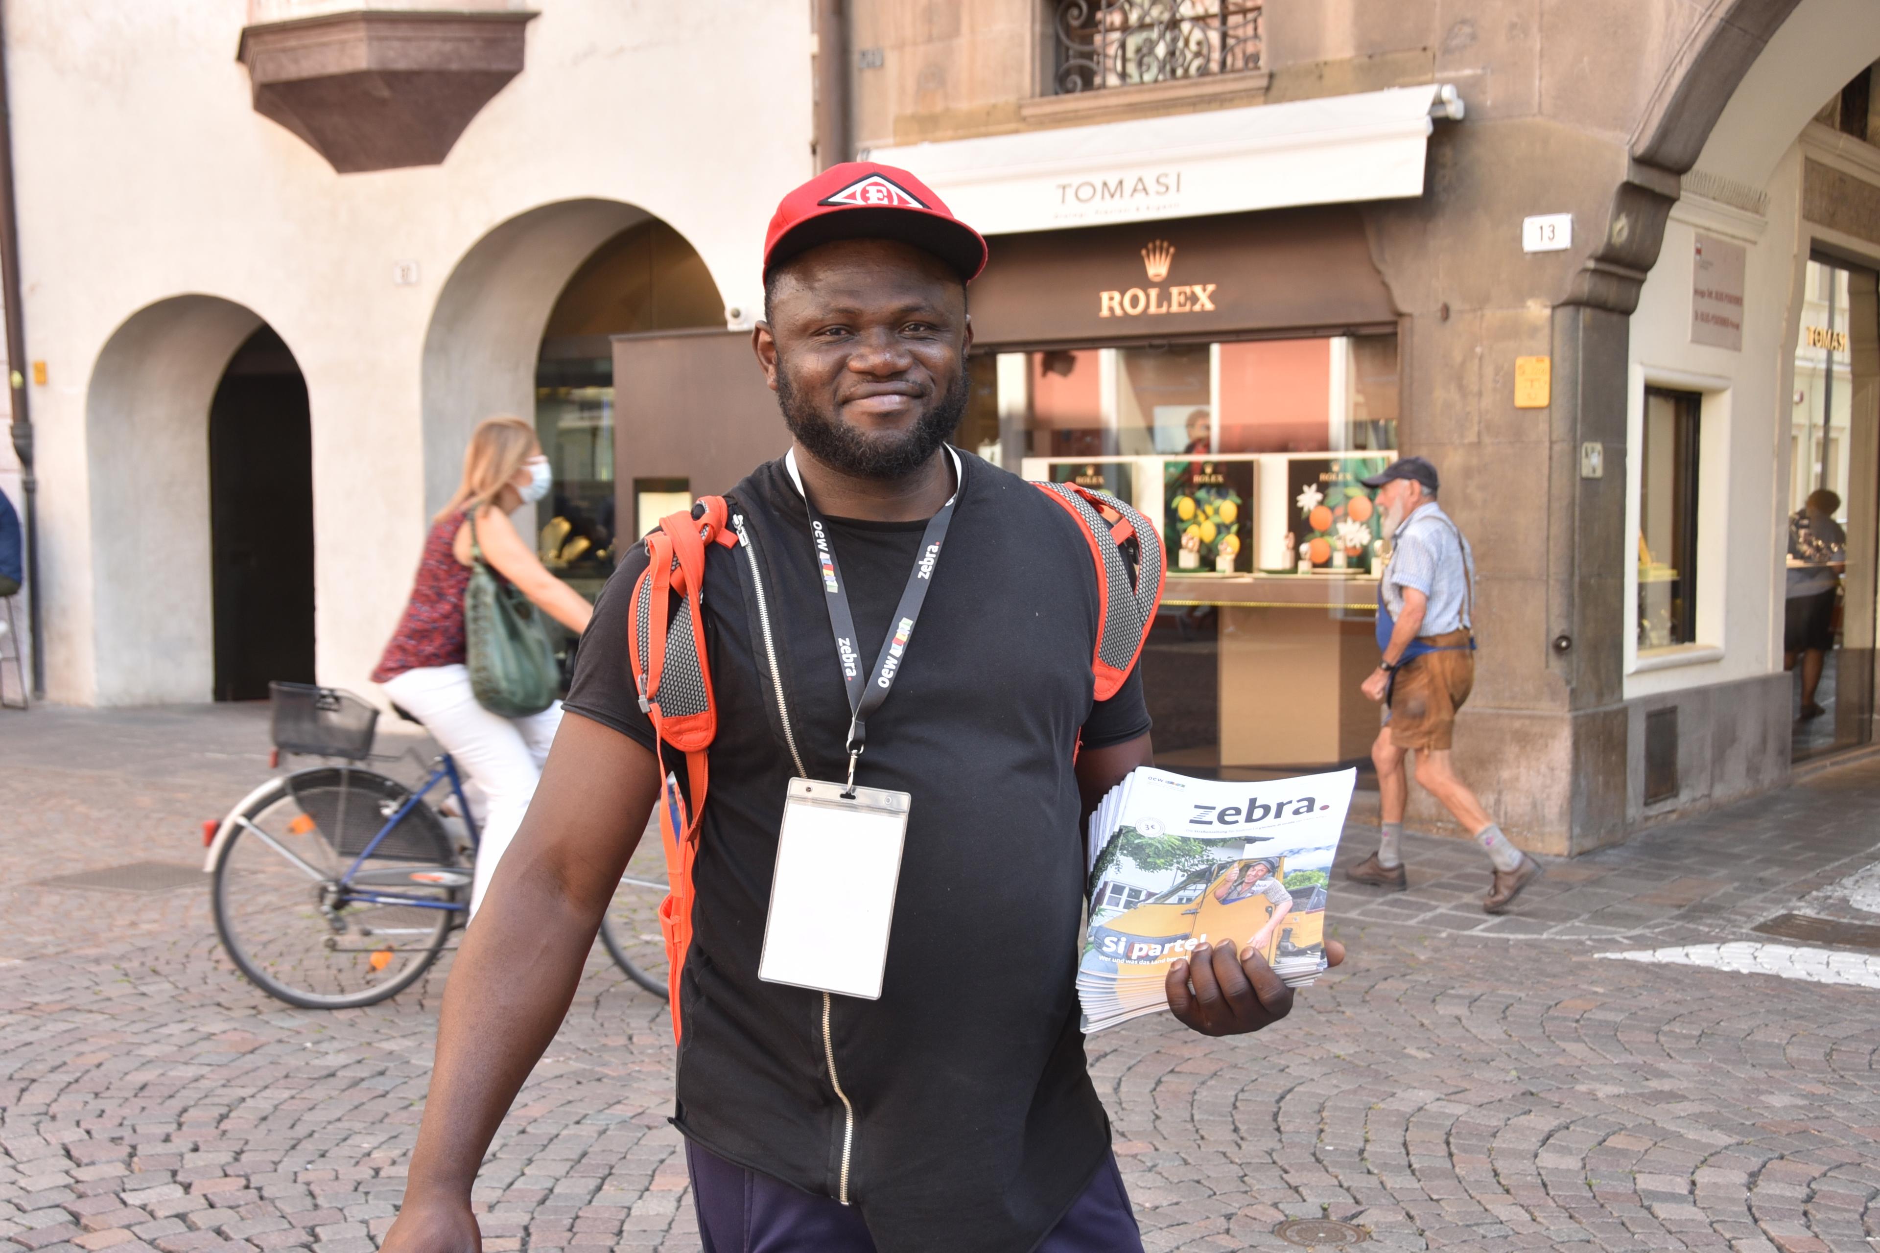
[[(861, 1214), (746, 1170), (686, 1140), (705, 1253), (874, 1253)], [(1034, 1253), (1143, 1253), (1111, 1155)]]

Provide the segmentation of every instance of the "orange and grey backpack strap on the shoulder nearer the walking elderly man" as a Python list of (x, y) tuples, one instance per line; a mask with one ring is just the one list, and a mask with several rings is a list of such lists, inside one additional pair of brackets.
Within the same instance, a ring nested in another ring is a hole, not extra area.
[(1096, 562), (1098, 620), (1090, 671), (1096, 674), (1096, 699), (1107, 701), (1136, 669), (1162, 605), (1162, 537), (1149, 518), (1109, 492), (1075, 483), (1038, 483), (1038, 488), (1077, 518)]

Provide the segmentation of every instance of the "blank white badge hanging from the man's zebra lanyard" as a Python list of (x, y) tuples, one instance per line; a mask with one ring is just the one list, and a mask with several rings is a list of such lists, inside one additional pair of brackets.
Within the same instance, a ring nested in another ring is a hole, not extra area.
[(758, 979), (882, 996), (908, 793), (790, 780)]

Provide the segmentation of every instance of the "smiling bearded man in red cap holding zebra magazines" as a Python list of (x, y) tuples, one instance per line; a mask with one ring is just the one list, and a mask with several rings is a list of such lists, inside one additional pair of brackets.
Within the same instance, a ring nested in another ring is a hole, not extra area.
[[(677, 992), (673, 1123), (709, 1253), (1141, 1249), (1085, 1071), (1075, 939), (1081, 819), (1151, 761), (1149, 714), (1134, 673), (1094, 699), (1079, 524), (948, 445), (985, 259), (927, 186), (863, 162), (786, 195), (765, 240), (754, 348), (791, 447), (728, 494), (741, 552), (705, 564), (716, 738)], [(387, 1253), (478, 1247), (478, 1165), (660, 797), (626, 644), (645, 569), (637, 549), (600, 597), (457, 956)], [(872, 998), (767, 945), (797, 907), (778, 868), (797, 791), (844, 776), (842, 821), (902, 840)], [(1222, 939), (1177, 964), (1169, 1003), (1224, 1035), (1282, 1018), (1292, 992)]]

